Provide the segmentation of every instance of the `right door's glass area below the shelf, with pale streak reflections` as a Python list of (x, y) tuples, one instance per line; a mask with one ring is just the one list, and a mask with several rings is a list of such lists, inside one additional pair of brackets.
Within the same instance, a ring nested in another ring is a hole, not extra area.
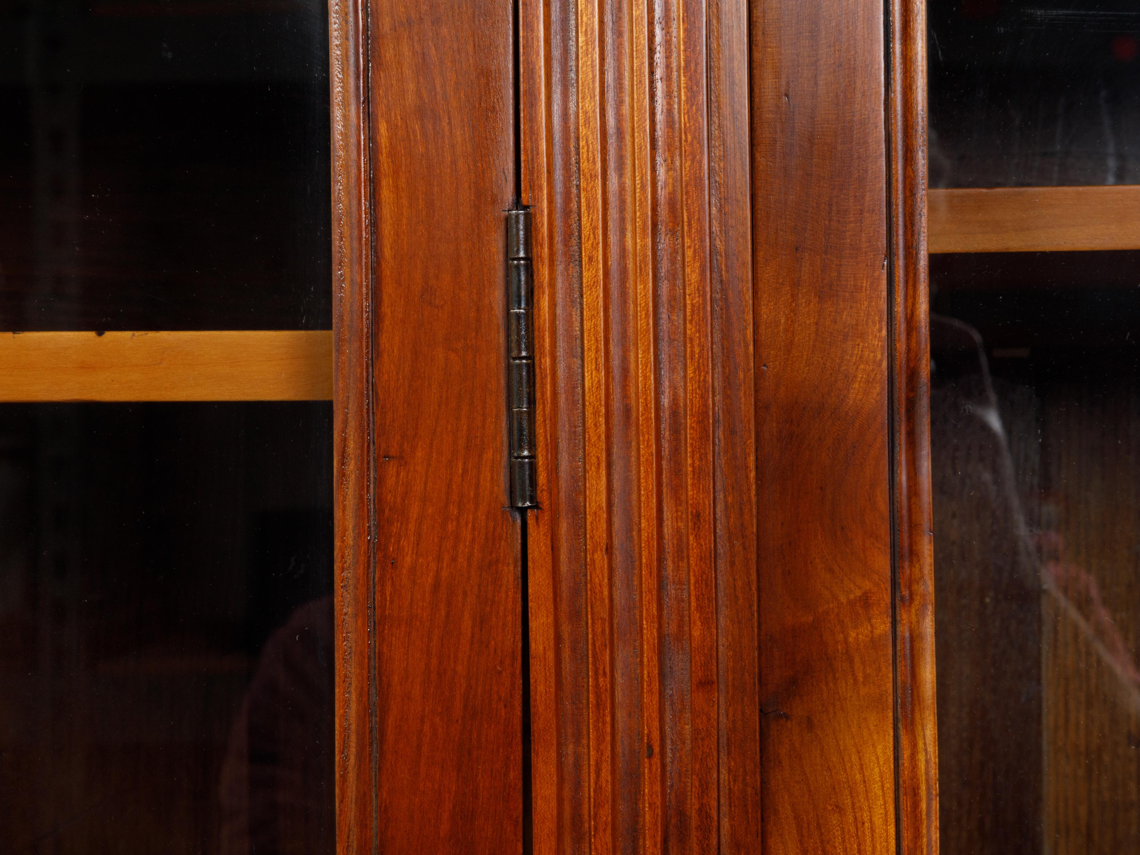
[(1133, 255), (931, 258), (946, 853), (1140, 846)]

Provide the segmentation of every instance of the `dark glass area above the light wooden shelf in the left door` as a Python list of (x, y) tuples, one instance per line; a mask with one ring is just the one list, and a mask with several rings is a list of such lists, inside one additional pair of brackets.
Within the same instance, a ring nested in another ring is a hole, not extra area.
[(331, 326), (324, 0), (0, 5), (0, 328)]

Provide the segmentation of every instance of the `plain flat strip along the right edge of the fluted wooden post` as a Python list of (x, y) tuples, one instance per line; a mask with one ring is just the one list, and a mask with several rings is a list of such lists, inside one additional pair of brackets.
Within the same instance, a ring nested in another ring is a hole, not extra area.
[(709, 10), (709, 206), (716, 495), (719, 852), (760, 846), (749, 17)]

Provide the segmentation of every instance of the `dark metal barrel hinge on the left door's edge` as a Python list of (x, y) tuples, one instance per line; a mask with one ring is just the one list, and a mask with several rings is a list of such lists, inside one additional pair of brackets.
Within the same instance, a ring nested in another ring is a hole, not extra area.
[(535, 282), (530, 266), (530, 210), (506, 212), (507, 408), (511, 422), (511, 506), (537, 507), (535, 474)]

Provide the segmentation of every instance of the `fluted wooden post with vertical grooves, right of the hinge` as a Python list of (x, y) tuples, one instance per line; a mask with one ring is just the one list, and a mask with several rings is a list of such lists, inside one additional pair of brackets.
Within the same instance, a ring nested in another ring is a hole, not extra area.
[(522, 2), (536, 853), (759, 844), (747, 15)]

